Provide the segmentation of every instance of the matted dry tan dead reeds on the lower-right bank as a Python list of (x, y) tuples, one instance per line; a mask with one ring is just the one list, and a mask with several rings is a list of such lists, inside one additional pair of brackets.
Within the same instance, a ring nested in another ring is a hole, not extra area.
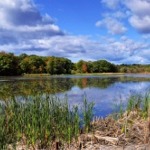
[(142, 118), (138, 111), (125, 112), (118, 120), (113, 117), (95, 119), (90, 133), (78, 138), (75, 149), (94, 147), (150, 144), (150, 119)]

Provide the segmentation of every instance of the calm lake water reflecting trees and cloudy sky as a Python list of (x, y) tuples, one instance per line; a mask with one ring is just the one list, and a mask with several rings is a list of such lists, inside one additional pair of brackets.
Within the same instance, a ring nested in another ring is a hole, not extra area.
[(80, 105), (86, 96), (95, 103), (96, 116), (107, 116), (120, 103), (125, 105), (131, 94), (150, 91), (150, 75), (0, 77), (0, 100), (12, 94), (19, 97), (38, 91), (60, 98), (67, 95), (70, 105)]

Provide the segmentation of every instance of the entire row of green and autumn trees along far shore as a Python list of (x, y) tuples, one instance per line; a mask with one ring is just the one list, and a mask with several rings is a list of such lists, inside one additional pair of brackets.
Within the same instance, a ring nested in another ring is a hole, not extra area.
[(122, 64), (115, 65), (106, 60), (84, 61), (73, 63), (63, 57), (37, 56), (0, 52), (0, 76), (22, 74), (76, 74), (76, 73), (143, 73), (150, 72), (150, 65)]

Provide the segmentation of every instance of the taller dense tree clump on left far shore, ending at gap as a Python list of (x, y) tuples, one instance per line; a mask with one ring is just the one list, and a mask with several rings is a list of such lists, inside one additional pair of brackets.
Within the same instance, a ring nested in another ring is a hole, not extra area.
[(62, 57), (43, 57), (37, 55), (0, 52), (0, 75), (21, 74), (71, 74), (73, 63)]

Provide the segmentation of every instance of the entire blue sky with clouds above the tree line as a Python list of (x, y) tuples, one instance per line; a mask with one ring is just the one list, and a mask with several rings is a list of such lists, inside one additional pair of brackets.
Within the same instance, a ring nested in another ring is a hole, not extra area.
[(150, 0), (1, 0), (0, 51), (150, 64)]

